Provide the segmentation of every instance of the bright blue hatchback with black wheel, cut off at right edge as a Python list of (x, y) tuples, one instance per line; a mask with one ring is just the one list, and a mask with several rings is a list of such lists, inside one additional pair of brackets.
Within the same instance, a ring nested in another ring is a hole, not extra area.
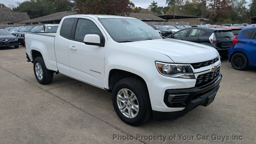
[(248, 66), (256, 67), (256, 27), (243, 28), (228, 50), (232, 67), (243, 70)]

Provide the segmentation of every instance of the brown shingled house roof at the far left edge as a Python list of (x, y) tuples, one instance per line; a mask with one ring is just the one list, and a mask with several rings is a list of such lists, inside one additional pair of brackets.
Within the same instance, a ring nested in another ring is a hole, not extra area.
[[(0, 22), (14, 22), (19, 23), (30, 19), (27, 13), (11, 12), (8, 7), (0, 7)], [(4, 15), (4, 17), (3, 17)]]

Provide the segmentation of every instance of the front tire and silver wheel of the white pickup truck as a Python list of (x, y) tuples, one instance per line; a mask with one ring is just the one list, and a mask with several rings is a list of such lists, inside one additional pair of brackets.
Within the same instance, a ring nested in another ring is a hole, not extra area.
[(152, 114), (146, 86), (136, 78), (124, 78), (115, 84), (112, 103), (118, 117), (132, 126), (147, 122)]

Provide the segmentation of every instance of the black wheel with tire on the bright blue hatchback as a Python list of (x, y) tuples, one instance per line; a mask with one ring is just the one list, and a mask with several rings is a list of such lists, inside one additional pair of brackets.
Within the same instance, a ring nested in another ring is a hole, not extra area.
[(247, 57), (242, 53), (236, 53), (231, 57), (231, 66), (236, 70), (244, 70), (248, 66)]

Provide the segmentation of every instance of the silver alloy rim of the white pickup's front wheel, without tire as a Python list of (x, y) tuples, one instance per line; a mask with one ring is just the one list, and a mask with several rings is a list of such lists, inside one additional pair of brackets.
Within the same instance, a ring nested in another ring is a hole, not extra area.
[(135, 118), (139, 112), (137, 97), (126, 88), (121, 89), (116, 97), (119, 110), (127, 118)]

